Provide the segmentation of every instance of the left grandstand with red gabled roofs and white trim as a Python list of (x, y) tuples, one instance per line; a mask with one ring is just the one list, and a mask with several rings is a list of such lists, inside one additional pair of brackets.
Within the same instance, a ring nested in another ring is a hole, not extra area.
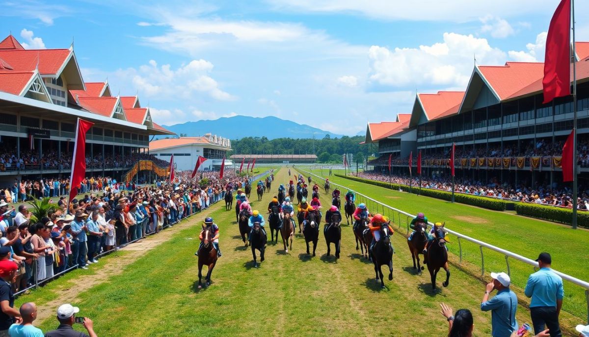
[(69, 177), (78, 117), (94, 123), (88, 176), (118, 179), (148, 158), (150, 136), (174, 134), (151, 120), (137, 96), (84, 82), (73, 47), (24, 49), (12, 35), (0, 42), (0, 183)]

